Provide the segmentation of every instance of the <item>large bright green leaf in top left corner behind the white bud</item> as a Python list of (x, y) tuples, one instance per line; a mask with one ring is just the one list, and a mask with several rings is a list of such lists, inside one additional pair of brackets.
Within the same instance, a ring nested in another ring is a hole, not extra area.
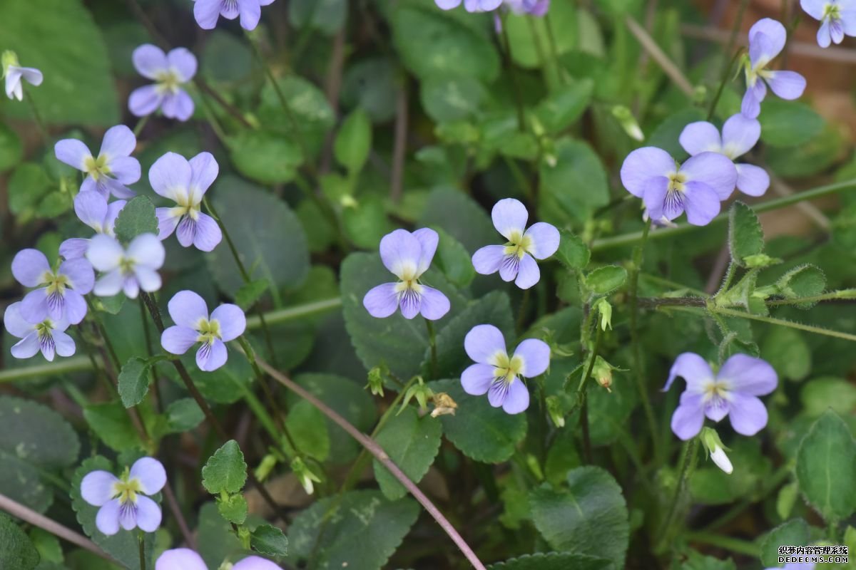
[[(90, 126), (119, 122), (107, 47), (80, 0), (3, 3), (0, 38), (4, 50), (17, 52), (22, 66), (44, 73), (42, 85), (26, 85), (24, 91), (45, 122)], [(6, 100), (0, 107), (4, 113), (32, 118), (25, 103)]]

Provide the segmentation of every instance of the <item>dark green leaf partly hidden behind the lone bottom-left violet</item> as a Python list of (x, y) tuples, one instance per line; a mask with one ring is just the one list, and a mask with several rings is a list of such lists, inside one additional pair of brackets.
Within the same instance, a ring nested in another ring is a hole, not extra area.
[[(84, 501), (83, 497), (80, 497), (80, 481), (83, 480), (86, 473), (98, 470), (115, 473), (113, 464), (110, 461), (101, 455), (96, 455), (86, 458), (80, 463), (80, 467), (77, 468), (74, 472), (74, 477), (71, 478), (71, 506), (74, 508), (74, 512), (77, 513), (77, 521), (83, 528), (83, 532), (86, 532), (86, 535), (92, 538), (92, 542), (98, 544), (104, 552), (115, 558), (123, 567), (128, 568), (128, 570), (140, 570), (140, 545), (137, 542), (137, 533), (120, 529), (114, 535), (105, 535), (95, 525), (98, 507), (92, 506)], [(152, 498), (157, 499), (157, 497)], [(154, 555), (155, 535), (153, 533), (146, 533), (145, 537), (144, 551), (146, 553), (146, 561), (148, 561), (148, 564), (146, 564), (148, 568), (143, 570), (151, 570), (153, 567), (152, 555)], [(149, 566), (150, 564), (152, 566)]]

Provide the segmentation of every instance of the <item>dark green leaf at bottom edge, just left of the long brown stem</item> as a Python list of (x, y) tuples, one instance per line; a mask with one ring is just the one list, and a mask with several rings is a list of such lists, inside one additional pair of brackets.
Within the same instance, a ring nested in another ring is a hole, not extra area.
[(289, 556), (306, 560), (314, 551), (317, 567), (380, 570), (418, 516), (419, 504), (409, 497), (389, 501), (380, 491), (327, 497), (298, 514), (288, 527)]

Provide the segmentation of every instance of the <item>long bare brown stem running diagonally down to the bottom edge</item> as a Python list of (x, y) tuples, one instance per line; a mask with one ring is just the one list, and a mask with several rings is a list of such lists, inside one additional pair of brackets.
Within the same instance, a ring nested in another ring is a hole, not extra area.
[(446, 532), (446, 534), (449, 535), (449, 538), (451, 538), (457, 547), (461, 549), (461, 552), (467, 557), (470, 564), (477, 568), (477, 570), (485, 570), (484, 564), (479, 561), (479, 557), (475, 552), (473, 552), (473, 549), (470, 548), (469, 544), (467, 544), (467, 542), (461, 537), (461, 534), (455, 530), (455, 527), (452, 526), (445, 516), (443, 516), (443, 513), (434, 506), (431, 499), (425, 497), (425, 493), (420, 491), (419, 487), (417, 487), (413, 481), (411, 481), (410, 478), (408, 478), (407, 475), (405, 475), (401, 469), (395, 465), (395, 462), (389, 459), (389, 455), (386, 455), (386, 452), (383, 451), (383, 448), (378, 445), (374, 439), (369, 438), (365, 433), (360, 432), (360, 430), (354, 427), (350, 422), (348, 422), (348, 420), (345, 420), (345, 418), (336, 413), (335, 410), (318, 400), (317, 397), (312, 396), (312, 394), (306, 391), (302, 386), (295, 384), (284, 374), (279, 373), (279, 371), (271, 367), (267, 362), (260, 359), (256, 359), (256, 361), (259, 362), (259, 367), (262, 367), (262, 369), (265, 370), (266, 373), (270, 374), (273, 379), (284, 385), (288, 390), (293, 391), (295, 394), (305, 399), (308, 403), (311, 403), (315, 408), (318, 408), (318, 411), (326, 415), (330, 420), (336, 422), (336, 424), (348, 432), (352, 438), (356, 439), (360, 445), (365, 447), (366, 450), (369, 450), (369, 453), (374, 455), (375, 459), (377, 459), (383, 467), (386, 467), (389, 473), (392, 473), (393, 477), (398, 479), (401, 485), (404, 485), (407, 491), (410, 491), (410, 494), (422, 504), (425, 510), (428, 511), (428, 514), (431, 514), (434, 520), (437, 520), (437, 524), (443, 528), (443, 531)]

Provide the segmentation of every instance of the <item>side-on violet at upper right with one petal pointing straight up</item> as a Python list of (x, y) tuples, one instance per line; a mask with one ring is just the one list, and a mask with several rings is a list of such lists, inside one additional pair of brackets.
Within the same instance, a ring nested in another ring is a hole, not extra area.
[(746, 94), (740, 113), (750, 119), (761, 113), (767, 85), (782, 99), (796, 99), (805, 91), (805, 78), (795, 71), (773, 71), (767, 65), (785, 47), (788, 32), (781, 22), (764, 18), (749, 29), (749, 59), (746, 60)]

